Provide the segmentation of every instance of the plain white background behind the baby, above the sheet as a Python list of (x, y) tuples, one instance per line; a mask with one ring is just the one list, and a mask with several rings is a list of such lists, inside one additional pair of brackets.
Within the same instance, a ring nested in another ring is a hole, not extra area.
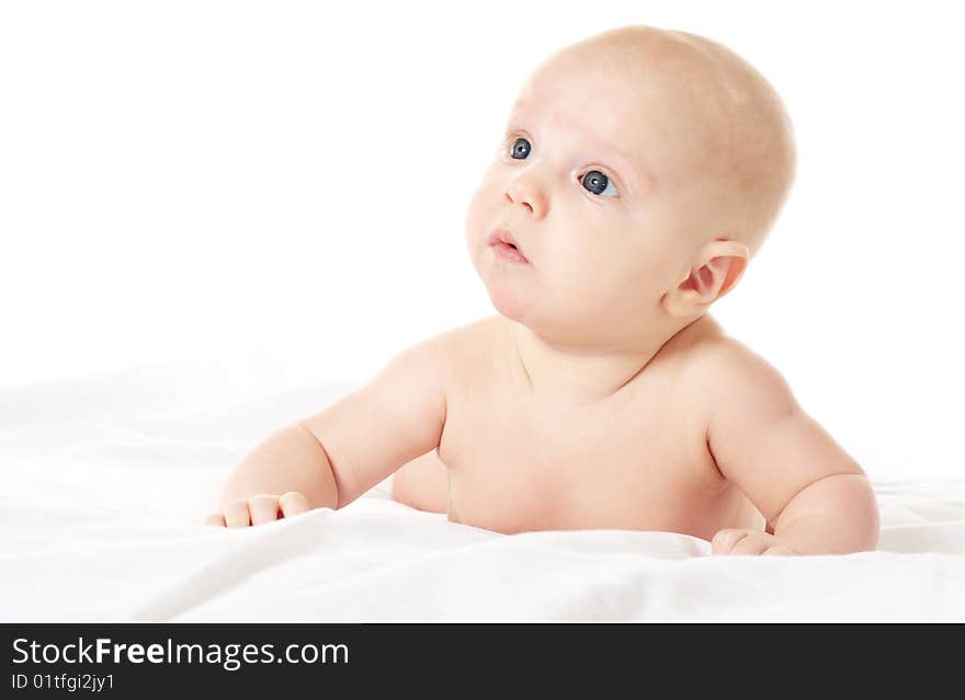
[(466, 204), (536, 62), (703, 34), (783, 95), (794, 193), (713, 309), (874, 477), (963, 473), (951, 2), (5, 2), (0, 386), (171, 358), (362, 381), (493, 313)]

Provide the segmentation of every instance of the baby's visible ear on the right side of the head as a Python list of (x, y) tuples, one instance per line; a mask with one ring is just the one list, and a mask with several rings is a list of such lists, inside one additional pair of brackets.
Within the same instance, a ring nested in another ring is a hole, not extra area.
[(661, 302), (671, 315), (688, 317), (705, 311), (734, 288), (747, 268), (750, 251), (737, 241), (711, 241), (682, 282), (663, 295)]

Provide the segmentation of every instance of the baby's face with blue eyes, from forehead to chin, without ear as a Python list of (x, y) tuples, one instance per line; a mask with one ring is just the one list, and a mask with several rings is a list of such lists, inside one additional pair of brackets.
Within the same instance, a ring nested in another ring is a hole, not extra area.
[[(720, 128), (686, 85), (586, 54), (524, 85), (468, 207), (473, 264), (496, 308), (574, 342), (652, 323), (713, 199)], [(490, 243), (508, 230), (525, 263)]]

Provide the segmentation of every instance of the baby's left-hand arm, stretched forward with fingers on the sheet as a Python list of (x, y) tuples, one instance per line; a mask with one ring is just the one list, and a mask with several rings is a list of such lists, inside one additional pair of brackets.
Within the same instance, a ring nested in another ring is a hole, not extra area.
[(213, 524), (245, 527), (341, 508), (439, 446), (445, 424), (441, 337), (395, 357), (366, 386), (261, 441), (225, 484)]

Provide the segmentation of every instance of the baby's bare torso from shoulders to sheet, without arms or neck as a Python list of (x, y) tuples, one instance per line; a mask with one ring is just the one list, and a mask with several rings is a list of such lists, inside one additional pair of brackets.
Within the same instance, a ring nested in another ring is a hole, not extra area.
[[(634, 529), (709, 540), (764, 518), (717, 470), (695, 363), (723, 340), (704, 317), (595, 403), (537, 400), (501, 315), (446, 337), (438, 450), (395, 474), (396, 500), (501, 532)], [(706, 381), (704, 379), (703, 381)]]

